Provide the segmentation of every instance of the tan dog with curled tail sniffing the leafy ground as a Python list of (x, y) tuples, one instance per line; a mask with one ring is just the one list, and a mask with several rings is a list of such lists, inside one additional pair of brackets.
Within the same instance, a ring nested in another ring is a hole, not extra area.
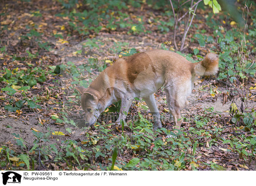
[(161, 128), (154, 93), (164, 86), (174, 126), (179, 129), (182, 123), (180, 110), (188, 105), (187, 97), (192, 91), (195, 76), (212, 75), (217, 71), (218, 58), (212, 53), (198, 63), (191, 63), (175, 52), (161, 49), (119, 58), (100, 73), (90, 87), (76, 87), (81, 93), (85, 125), (93, 125), (105, 108), (121, 99), (119, 118), (116, 120), (120, 123), (137, 97), (145, 100), (154, 116), (154, 129)]

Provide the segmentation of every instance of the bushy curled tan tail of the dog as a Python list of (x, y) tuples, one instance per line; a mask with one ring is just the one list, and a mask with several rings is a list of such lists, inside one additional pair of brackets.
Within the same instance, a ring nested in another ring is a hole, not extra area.
[(218, 57), (214, 53), (208, 53), (204, 59), (193, 64), (192, 69), (199, 76), (214, 75), (218, 72)]

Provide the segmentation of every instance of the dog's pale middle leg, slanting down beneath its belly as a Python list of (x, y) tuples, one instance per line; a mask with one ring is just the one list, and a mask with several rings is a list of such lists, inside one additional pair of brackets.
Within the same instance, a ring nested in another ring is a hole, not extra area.
[(161, 117), (160, 117), (159, 110), (157, 108), (157, 103), (154, 98), (154, 94), (151, 94), (148, 97), (144, 97), (143, 99), (145, 100), (146, 104), (148, 105), (148, 108), (154, 118), (154, 130), (156, 130), (157, 128), (162, 128)]

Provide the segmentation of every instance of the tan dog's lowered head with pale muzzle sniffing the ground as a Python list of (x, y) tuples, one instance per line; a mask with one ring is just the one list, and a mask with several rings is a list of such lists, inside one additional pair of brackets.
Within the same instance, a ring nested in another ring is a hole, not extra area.
[(81, 94), (81, 106), (85, 112), (85, 126), (93, 125), (99, 117), (99, 92), (91, 88), (75, 87)]

